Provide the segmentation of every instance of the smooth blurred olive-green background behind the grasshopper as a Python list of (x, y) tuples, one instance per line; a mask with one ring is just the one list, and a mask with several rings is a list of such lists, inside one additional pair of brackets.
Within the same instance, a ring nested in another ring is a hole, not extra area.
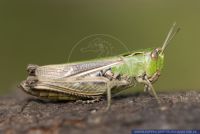
[(29, 63), (67, 62), (73, 46), (88, 35), (112, 35), (130, 50), (157, 47), (174, 21), (181, 31), (167, 48), (155, 88), (199, 89), (199, 0), (1, 0), (0, 93), (17, 89)]

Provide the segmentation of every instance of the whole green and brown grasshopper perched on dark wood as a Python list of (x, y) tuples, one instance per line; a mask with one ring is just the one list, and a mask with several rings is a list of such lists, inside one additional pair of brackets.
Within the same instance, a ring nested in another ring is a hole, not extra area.
[(162, 47), (129, 52), (119, 56), (57, 65), (29, 65), (28, 78), (20, 87), (28, 94), (48, 100), (99, 101), (137, 83), (153, 93), (160, 102), (153, 83), (159, 78), (164, 63), (164, 50), (179, 28), (171, 27)]

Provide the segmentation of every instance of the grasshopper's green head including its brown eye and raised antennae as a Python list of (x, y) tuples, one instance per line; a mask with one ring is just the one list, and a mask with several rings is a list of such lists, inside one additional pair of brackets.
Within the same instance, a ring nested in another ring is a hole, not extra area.
[(177, 28), (174, 30), (176, 23), (173, 24), (171, 27), (162, 47), (156, 48), (154, 50), (148, 51), (146, 54), (146, 74), (148, 77), (153, 76), (155, 73), (160, 73), (161, 69), (163, 68), (164, 64), (164, 51), (169, 44), (169, 42), (173, 39), (176, 33), (180, 30)]

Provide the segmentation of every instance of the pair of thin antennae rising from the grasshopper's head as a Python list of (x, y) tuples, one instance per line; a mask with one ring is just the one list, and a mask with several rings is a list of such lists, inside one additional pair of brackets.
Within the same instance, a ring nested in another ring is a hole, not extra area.
[(169, 30), (169, 33), (167, 34), (167, 37), (163, 43), (163, 46), (161, 48), (161, 53), (164, 52), (165, 48), (169, 44), (169, 42), (174, 38), (174, 36), (180, 31), (180, 28), (177, 28), (176, 31), (174, 31), (176, 27), (176, 22), (173, 23), (172, 27)]

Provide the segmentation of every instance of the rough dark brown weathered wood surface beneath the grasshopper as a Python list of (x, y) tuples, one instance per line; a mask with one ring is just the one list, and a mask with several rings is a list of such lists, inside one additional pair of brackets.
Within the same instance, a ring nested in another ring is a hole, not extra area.
[[(17, 93), (20, 91), (17, 91)], [(118, 96), (111, 110), (94, 104), (44, 102), (24, 94), (0, 98), (0, 133), (122, 134), (135, 128), (200, 127), (200, 93), (159, 94), (162, 104), (145, 94)]]

